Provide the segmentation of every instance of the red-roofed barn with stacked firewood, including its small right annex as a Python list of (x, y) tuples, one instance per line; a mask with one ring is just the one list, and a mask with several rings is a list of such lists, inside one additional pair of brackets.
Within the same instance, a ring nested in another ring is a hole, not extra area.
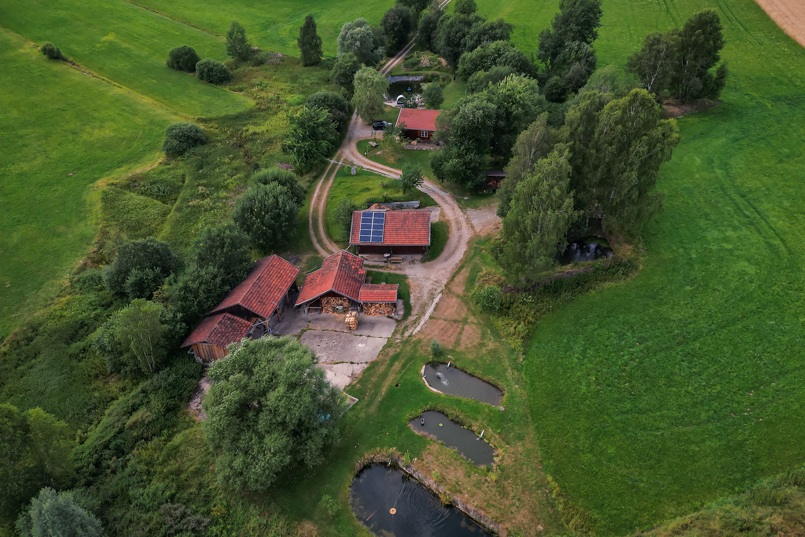
[[(304, 279), (296, 306), (303, 312), (320, 313), (374, 312), (378, 304), (397, 302), (396, 283), (365, 283), (366, 271), (363, 259), (341, 250), (325, 258), (321, 268), (312, 271)], [(386, 306), (394, 312), (394, 306)], [(388, 309), (383, 309), (384, 314)]]

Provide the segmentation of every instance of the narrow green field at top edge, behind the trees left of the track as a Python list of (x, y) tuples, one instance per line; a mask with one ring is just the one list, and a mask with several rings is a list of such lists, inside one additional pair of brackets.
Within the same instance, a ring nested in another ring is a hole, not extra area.
[(306, 0), (303, 4), (293, 0), (275, 0), (266, 5), (255, 0), (138, 0), (159, 13), (192, 24), (215, 35), (226, 35), (232, 19), (238, 19), (252, 42), (263, 50), (299, 56), (296, 39), (305, 15), (312, 13), (323, 41), (324, 54), (335, 55), (336, 38), (347, 21), (363, 17), (378, 24), (393, 0), (369, 0), (356, 4), (346, 0)]

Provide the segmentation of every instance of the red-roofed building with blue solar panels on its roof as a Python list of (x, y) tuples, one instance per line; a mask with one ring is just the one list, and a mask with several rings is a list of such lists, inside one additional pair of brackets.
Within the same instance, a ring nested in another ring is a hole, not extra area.
[(355, 211), (349, 245), (355, 246), (358, 254), (425, 254), (431, 246), (431, 213)]

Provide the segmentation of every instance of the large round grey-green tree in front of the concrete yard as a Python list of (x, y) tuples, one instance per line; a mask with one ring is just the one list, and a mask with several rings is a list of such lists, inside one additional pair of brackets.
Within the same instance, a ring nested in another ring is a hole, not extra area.
[(294, 465), (319, 465), (338, 439), (344, 395), (294, 337), (245, 339), (207, 376), (202, 428), (223, 485), (265, 490)]

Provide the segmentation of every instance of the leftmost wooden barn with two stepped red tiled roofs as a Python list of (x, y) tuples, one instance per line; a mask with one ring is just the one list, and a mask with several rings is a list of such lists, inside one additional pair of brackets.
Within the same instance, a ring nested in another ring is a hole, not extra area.
[(260, 337), (266, 321), (291, 307), (288, 292), (296, 288), (299, 268), (278, 255), (254, 264), (246, 279), (226, 294), (209, 316), (192, 331), (182, 348), (190, 347), (196, 358), (213, 361), (225, 357), (230, 343), (246, 336)]

